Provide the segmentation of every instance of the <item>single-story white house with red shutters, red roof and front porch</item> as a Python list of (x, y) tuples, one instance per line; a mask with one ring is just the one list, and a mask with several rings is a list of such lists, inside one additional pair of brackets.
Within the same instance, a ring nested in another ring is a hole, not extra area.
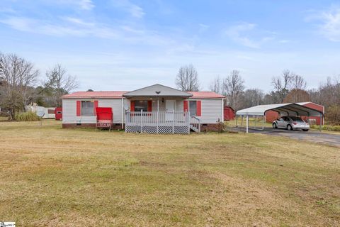
[(154, 84), (132, 92), (74, 92), (61, 99), (63, 128), (95, 127), (96, 107), (110, 107), (113, 128), (139, 133), (190, 133), (217, 130), (223, 121), (225, 96)]

